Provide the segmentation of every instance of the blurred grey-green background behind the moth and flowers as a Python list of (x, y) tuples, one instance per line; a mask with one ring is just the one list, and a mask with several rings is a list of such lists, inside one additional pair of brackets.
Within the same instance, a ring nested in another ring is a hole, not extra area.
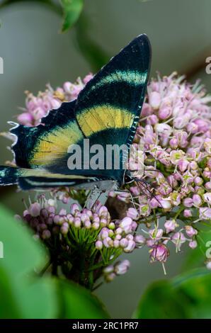
[[(205, 59), (211, 56), (210, 0), (85, 0), (78, 23), (67, 33), (59, 33), (61, 16), (40, 1), (16, 1), (2, 6), (0, 1), (0, 132), (8, 130), (8, 120), (16, 121), (24, 107), (24, 91), (37, 94), (50, 82), (53, 87), (96, 72), (140, 33), (152, 43), (152, 72), (186, 74), (190, 81), (200, 78), (211, 91), (211, 74)], [(20, 2), (20, 3), (19, 3)], [(42, 1), (41, 1), (42, 2)], [(0, 164), (11, 160), (8, 140), (0, 140)], [(22, 213), (23, 193), (0, 190), (0, 202), (14, 213)], [(14, 235), (15, 237), (15, 235)], [(181, 271), (184, 255), (172, 254), (166, 264), (167, 278)], [(147, 249), (125, 256), (130, 271), (96, 293), (112, 317), (130, 317), (144, 288), (165, 278), (160, 264), (149, 264)], [(187, 254), (188, 252), (186, 252)]]

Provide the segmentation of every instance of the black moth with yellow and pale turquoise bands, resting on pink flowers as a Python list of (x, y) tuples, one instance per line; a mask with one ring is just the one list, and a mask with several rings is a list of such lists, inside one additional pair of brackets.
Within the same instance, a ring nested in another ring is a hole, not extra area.
[(70, 169), (69, 147), (78, 145), (83, 150), (84, 140), (89, 139), (90, 146), (130, 148), (147, 89), (150, 62), (149, 39), (139, 35), (86, 84), (78, 98), (49, 111), (40, 125), (13, 123), (10, 132), (16, 140), (11, 149), (17, 167), (0, 166), (0, 186), (18, 184), (22, 190), (89, 188), (97, 196), (104, 193), (106, 198), (110, 189), (131, 180), (130, 171), (122, 167), (124, 152), (120, 153), (118, 169)]

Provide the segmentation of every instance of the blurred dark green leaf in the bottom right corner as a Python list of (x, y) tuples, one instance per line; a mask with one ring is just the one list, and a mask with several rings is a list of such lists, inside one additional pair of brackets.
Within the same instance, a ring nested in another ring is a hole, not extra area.
[(135, 318), (211, 318), (211, 273), (195, 269), (170, 281), (152, 283), (137, 307)]

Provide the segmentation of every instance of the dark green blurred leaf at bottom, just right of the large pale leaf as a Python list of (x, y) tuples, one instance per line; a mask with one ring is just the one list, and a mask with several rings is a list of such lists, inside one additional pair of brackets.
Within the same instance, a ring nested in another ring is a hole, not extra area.
[(109, 318), (101, 302), (89, 290), (71, 281), (57, 281), (60, 317), (65, 319)]

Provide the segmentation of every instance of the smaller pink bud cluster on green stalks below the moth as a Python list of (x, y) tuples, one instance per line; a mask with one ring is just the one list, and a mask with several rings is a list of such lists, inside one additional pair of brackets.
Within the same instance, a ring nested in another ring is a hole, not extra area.
[[(124, 218), (115, 223), (110, 221), (108, 209), (96, 203), (92, 210), (81, 210), (77, 203), (68, 205), (68, 209), (58, 208), (57, 199), (38, 197), (38, 200), (27, 206), (23, 211), (25, 221), (35, 232), (35, 239), (42, 239), (50, 251), (61, 252), (60, 255), (74, 252), (76, 244), (80, 247), (86, 244), (86, 252), (98, 257), (97, 264), (103, 267), (102, 275), (105, 281), (112, 281), (115, 276), (126, 273), (130, 267), (129, 261), (118, 261), (122, 251), (132, 252), (139, 247), (138, 236), (134, 237), (137, 223), (131, 218)], [(20, 216), (17, 218), (21, 219)], [(55, 244), (59, 247), (55, 249)], [(111, 250), (111, 251), (110, 251)], [(84, 256), (86, 256), (84, 252)], [(113, 271), (110, 271), (113, 267)]]

